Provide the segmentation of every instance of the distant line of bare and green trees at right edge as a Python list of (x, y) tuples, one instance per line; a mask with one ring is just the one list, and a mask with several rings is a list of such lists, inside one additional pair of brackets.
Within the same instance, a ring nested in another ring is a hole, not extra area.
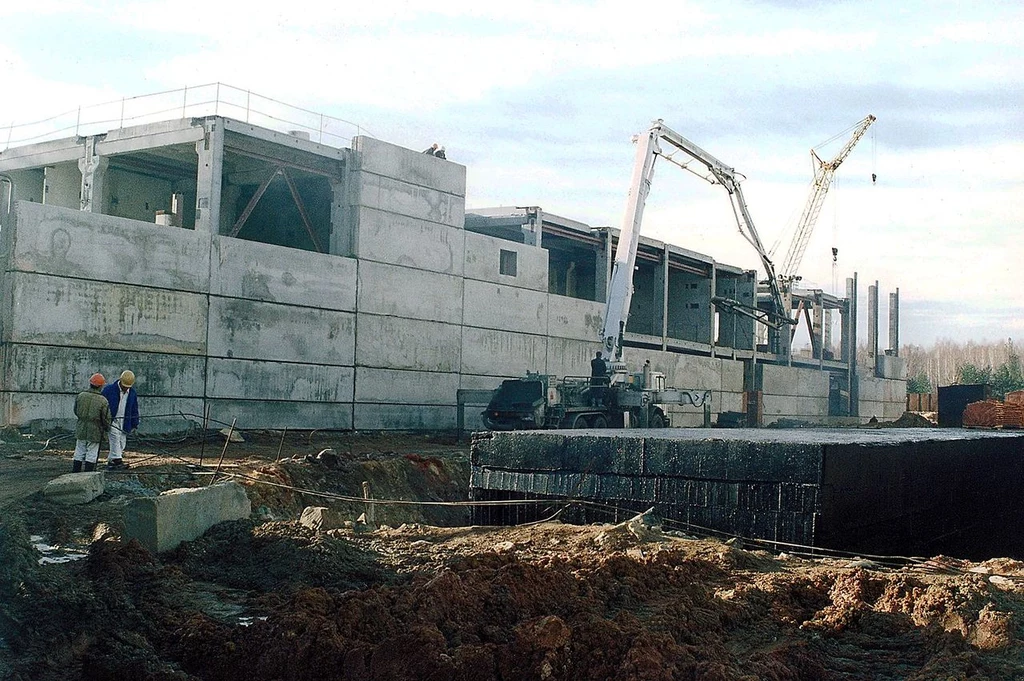
[[(863, 352), (862, 359), (858, 358), (866, 361), (867, 348), (858, 350)], [(929, 348), (903, 345), (899, 353), (906, 361), (907, 392), (933, 392), (942, 385), (974, 383), (992, 386), (994, 397), (1024, 390), (1024, 372), (1013, 339), (994, 343), (940, 340)]]

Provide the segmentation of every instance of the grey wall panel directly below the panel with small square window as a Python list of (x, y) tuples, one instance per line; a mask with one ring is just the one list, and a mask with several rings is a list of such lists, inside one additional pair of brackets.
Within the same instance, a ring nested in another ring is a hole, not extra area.
[(465, 286), (465, 326), (547, 335), (548, 294), (468, 279)]

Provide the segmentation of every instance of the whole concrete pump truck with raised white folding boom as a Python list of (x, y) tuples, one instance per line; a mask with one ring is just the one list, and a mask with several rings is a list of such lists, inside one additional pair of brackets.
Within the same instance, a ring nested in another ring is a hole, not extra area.
[[(736, 172), (671, 130), (660, 119), (654, 121), (646, 133), (637, 135), (635, 141), (636, 160), (626, 202), (626, 214), (615, 248), (601, 333), (605, 371), (593, 372), (595, 375), (590, 377), (561, 379), (527, 373), (525, 378), (503, 381), (482, 413), (487, 428), (660, 428), (668, 425), (664, 409), (667, 405), (690, 405), (696, 408), (710, 405), (710, 390), (668, 388), (665, 386), (665, 374), (651, 371), (649, 365), (645, 365), (641, 372), (630, 372), (623, 360), (623, 336), (633, 296), (633, 271), (640, 244), (640, 224), (657, 157), (713, 184), (725, 187), (739, 231), (758, 251), (765, 267), (771, 291), (766, 309), (749, 308), (724, 298), (716, 298), (714, 302), (775, 328), (788, 322), (774, 267), (748, 212)], [(683, 160), (674, 158), (678, 152), (685, 155)]]

